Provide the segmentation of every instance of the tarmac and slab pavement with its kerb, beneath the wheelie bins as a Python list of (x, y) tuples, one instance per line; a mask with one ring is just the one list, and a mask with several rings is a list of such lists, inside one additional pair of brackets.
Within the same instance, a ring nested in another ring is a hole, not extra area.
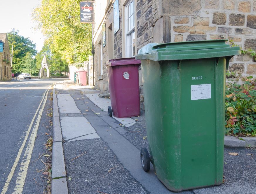
[[(173, 193), (152, 165), (147, 173), (141, 167), (145, 113), (109, 117), (110, 99), (99, 94), (70, 81), (53, 90), (52, 193)], [(224, 183), (180, 193), (255, 193), (255, 146), (255, 138), (225, 136)]]

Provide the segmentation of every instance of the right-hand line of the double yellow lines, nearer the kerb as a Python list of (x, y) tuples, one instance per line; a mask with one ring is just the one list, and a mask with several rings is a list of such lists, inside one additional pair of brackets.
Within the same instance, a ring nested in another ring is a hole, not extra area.
[(35, 138), (36, 138), (36, 135), (37, 135), (40, 120), (42, 118), (43, 110), (45, 108), (45, 104), (46, 104), (46, 101), (47, 101), (48, 92), (49, 92), (49, 88), (47, 89), (47, 93), (45, 95), (43, 105), (42, 105), (42, 107), (41, 107), (41, 109), (38, 113), (37, 119), (35, 121), (35, 125), (33, 127), (32, 133), (30, 135), (28, 145), (27, 145), (25, 154), (23, 156), (23, 160), (21, 162), (21, 167), (20, 167), (20, 170), (19, 170), (19, 173), (18, 173), (18, 177), (17, 177), (17, 180), (16, 180), (16, 186), (14, 187), (13, 194), (22, 193), (22, 191), (23, 191), (23, 186), (24, 186), (25, 179), (26, 179), (26, 176), (27, 176), (28, 166), (29, 166), (30, 159), (31, 159), (31, 156), (32, 156), (32, 152), (33, 152), (33, 148), (34, 148), (34, 145), (35, 145)]

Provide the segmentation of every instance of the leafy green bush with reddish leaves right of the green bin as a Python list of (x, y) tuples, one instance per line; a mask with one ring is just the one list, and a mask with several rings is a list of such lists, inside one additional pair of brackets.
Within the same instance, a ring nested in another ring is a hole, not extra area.
[(227, 84), (225, 127), (226, 134), (256, 136), (256, 80), (252, 76), (242, 85)]

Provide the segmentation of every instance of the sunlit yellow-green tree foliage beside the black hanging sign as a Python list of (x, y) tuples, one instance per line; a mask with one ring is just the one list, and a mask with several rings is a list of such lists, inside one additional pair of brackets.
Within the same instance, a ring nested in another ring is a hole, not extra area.
[(91, 24), (80, 23), (79, 2), (42, 0), (33, 11), (51, 52), (69, 64), (86, 61), (91, 55)]

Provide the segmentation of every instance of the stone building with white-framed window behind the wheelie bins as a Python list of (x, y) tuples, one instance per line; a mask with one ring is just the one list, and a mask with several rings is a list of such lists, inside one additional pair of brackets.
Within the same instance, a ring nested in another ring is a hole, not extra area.
[[(256, 50), (256, 0), (96, 0), (94, 6), (95, 88), (103, 92), (108, 91), (104, 63), (133, 57), (150, 42), (229, 39)], [(235, 56), (229, 70), (255, 77), (255, 59)], [(141, 86), (140, 73), (142, 108)]]

